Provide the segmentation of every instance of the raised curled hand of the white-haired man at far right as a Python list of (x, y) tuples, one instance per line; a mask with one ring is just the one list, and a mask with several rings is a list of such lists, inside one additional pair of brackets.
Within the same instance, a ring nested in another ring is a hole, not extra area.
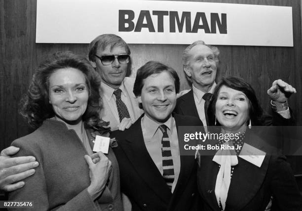
[(270, 99), (279, 103), (286, 102), (293, 93), (297, 93), (296, 89), (281, 79), (274, 81), (267, 90)]

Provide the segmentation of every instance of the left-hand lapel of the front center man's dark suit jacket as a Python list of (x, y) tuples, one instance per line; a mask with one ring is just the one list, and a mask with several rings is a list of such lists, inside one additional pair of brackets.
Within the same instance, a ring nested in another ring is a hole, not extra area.
[(134, 169), (147, 185), (166, 203), (171, 198), (171, 191), (154, 164), (144, 142), (142, 116), (127, 130), (125, 141), (118, 145), (123, 149)]

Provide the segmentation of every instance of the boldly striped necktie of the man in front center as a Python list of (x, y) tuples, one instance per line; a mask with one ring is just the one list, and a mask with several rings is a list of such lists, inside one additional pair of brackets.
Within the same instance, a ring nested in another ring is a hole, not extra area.
[(167, 133), (167, 126), (162, 124), (159, 126), (159, 129), (163, 134), (161, 139), (161, 155), (162, 155), (162, 169), (163, 169), (162, 177), (166, 181), (169, 189), (172, 190), (172, 184), (175, 176), (174, 176), (174, 167), (173, 167), (170, 141)]

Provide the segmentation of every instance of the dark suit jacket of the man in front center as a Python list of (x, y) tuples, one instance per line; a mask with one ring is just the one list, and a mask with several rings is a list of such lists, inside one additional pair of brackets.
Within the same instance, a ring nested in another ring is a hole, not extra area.
[[(143, 115), (125, 131), (113, 131), (118, 147), (113, 151), (120, 169), (121, 191), (131, 203), (133, 211), (200, 211), (197, 196), (194, 156), (181, 156), (181, 170), (173, 194), (153, 163), (144, 143), (141, 127)], [(202, 126), (197, 118), (175, 114), (176, 127)], [(179, 140), (180, 141), (180, 140)]]

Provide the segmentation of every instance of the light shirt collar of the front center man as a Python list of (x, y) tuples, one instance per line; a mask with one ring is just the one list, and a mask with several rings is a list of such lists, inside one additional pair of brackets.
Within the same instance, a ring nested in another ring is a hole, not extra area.
[(166, 125), (171, 133), (173, 132), (173, 129), (176, 128), (175, 120), (172, 115), (166, 122), (161, 124), (151, 120), (147, 115), (144, 115), (142, 118), (142, 130), (144, 130), (144, 137), (146, 140), (150, 140), (159, 129), (159, 125), (162, 124)]

